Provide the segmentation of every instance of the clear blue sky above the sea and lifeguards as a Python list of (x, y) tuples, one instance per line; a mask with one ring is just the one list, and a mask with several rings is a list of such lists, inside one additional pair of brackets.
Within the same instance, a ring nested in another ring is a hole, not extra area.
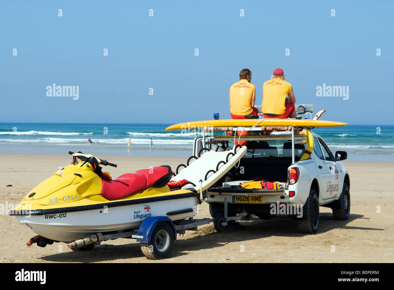
[[(229, 119), (240, 70), (252, 71), (261, 105), (262, 84), (282, 68), (296, 104), (325, 109), (321, 119), (393, 125), (393, 9), (392, 1), (2, 1), (0, 122)], [(78, 86), (78, 99), (47, 96), (53, 83)], [(348, 99), (317, 96), (323, 84), (345, 86)]]

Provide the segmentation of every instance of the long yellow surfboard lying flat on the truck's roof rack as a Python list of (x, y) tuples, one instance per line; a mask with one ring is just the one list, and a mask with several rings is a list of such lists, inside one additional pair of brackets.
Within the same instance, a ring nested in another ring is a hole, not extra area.
[[(260, 122), (260, 123), (259, 123)], [(257, 125), (256, 125), (257, 124)], [(255, 126), (256, 125), (256, 126)], [(268, 126), (293, 126), (293, 127), (338, 127), (348, 123), (306, 120), (306, 119), (229, 119), (229, 120), (207, 120), (180, 123), (166, 128), (170, 130), (202, 129), (204, 127), (268, 127)]]

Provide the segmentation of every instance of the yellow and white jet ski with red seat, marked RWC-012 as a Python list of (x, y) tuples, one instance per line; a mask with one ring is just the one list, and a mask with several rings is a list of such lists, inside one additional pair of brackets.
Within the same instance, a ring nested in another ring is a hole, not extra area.
[(99, 232), (133, 231), (151, 216), (175, 221), (197, 214), (201, 199), (195, 190), (169, 189), (173, 176), (169, 166), (141, 169), (112, 180), (100, 165), (116, 164), (82, 152), (69, 154), (70, 165), (34, 187), (9, 212), (41, 236), (39, 246), (69, 243)]

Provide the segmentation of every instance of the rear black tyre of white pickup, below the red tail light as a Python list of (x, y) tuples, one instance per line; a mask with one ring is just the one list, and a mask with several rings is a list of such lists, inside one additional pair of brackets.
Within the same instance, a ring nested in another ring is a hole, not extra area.
[(298, 220), (298, 229), (301, 233), (316, 233), (319, 226), (319, 198), (314, 189), (309, 191), (307, 199), (307, 210), (303, 211), (307, 214), (305, 220)]

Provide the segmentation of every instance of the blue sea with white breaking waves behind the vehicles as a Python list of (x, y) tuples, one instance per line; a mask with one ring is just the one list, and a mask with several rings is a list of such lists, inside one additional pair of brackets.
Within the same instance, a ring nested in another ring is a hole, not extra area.
[[(170, 125), (0, 123), (0, 153), (191, 156), (193, 139), (202, 136), (201, 132), (165, 131)], [(393, 125), (347, 125), (315, 128), (313, 132), (334, 154), (348, 152), (348, 160), (394, 161)], [(92, 143), (87, 143), (89, 138)]]

